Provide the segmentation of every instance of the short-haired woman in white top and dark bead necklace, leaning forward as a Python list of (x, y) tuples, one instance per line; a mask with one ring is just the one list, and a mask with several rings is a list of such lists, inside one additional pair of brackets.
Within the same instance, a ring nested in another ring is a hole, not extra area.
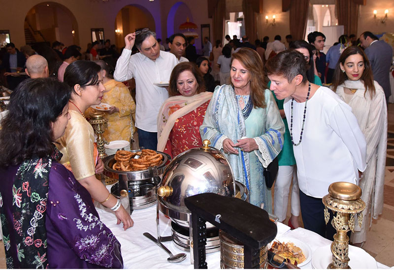
[(332, 90), (308, 82), (301, 53), (281, 52), (266, 67), (270, 89), (285, 98), (304, 227), (332, 240), (335, 229), (325, 224), (322, 198), (333, 182), (358, 184), (366, 168), (364, 135), (349, 105)]

